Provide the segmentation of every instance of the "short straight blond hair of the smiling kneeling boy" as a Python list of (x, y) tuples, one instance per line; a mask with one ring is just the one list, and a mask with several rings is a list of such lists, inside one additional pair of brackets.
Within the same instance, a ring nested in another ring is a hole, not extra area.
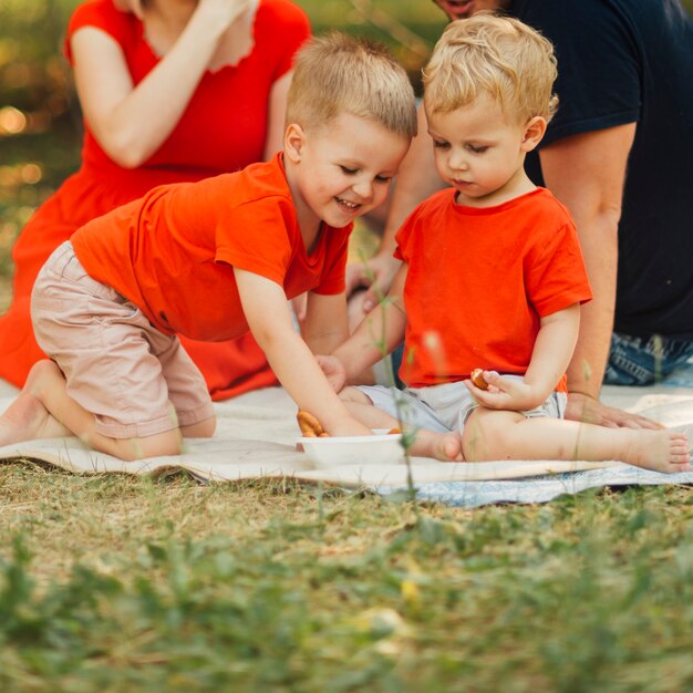
[(322, 126), (342, 113), (416, 135), (416, 102), (404, 68), (382, 44), (332, 32), (312, 39), (296, 59), (287, 125)]

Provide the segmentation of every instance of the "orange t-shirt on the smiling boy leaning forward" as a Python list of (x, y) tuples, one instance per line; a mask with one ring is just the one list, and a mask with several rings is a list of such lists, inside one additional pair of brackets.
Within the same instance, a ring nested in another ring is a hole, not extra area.
[(91, 277), (139, 307), (162, 332), (219, 341), (248, 330), (234, 267), (287, 298), (344, 291), (351, 225), (322, 225), (303, 246), (281, 154), (244, 170), (154, 188), (72, 236)]

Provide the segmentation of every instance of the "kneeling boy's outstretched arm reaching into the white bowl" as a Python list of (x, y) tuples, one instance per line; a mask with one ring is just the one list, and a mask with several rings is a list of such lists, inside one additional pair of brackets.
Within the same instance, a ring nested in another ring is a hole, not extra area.
[(371, 435), (370, 428), (349, 414), (293, 329), (283, 289), (246, 270), (234, 268), (234, 275), (250, 331), (298, 407), (318, 416), (330, 435)]

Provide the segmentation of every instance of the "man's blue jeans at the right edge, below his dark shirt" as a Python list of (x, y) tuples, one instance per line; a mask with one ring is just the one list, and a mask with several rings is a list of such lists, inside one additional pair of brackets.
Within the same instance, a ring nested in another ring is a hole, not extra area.
[[(693, 342), (614, 332), (604, 373), (608, 385), (652, 385), (693, 358)], [(693, 382), (690, 383), (693, 385)]]

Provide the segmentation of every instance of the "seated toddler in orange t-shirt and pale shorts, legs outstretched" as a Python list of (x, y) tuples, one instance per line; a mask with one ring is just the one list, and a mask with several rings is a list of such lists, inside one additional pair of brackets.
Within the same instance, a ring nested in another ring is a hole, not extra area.
[[(374, 337), (390, 350), (404, 335), (407, 390), (349, 387), (342, 399), (373, 427), (394, 425), (394, 400), (403, 400), (411, 423), (453, 432), (432, 448), (442, 459), (461, 458), (462, 445), (467, 461), (689, 470), (685, 434), (561, 420), (591, 292), (572, 220), (524, 169), (556, 108), (555, 79), (551, 44), (519, 21), (482, 13), (449, 24), (424, 71), (424, 107), (451, 188), (400, 229), (403, 263), (389, 300), (321, 364), (339, 391), (381, 356)], [(482, 389), (469, 380), (477, 366)]]

